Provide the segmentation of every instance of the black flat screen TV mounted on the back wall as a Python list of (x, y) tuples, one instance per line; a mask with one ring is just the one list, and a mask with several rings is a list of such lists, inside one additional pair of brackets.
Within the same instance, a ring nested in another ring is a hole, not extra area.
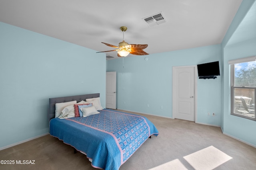
[[(198, 70), (198, 77), (215, 77), (220, 76), (220, 66), (219, 61), (211, 62), (211, 63), (204, 63), (197, 65)], [(215, 77), (217, 78), (217, 77)]]

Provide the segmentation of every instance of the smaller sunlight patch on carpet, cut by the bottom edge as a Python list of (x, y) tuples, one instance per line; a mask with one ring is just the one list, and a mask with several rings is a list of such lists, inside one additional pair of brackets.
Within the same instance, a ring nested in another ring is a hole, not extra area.
[(178, 159), (172, 160), (170, 162), (166, 162), (165, 164), (156, 166), (154, 168), (151, 168), (149, 170), (188, 170)]

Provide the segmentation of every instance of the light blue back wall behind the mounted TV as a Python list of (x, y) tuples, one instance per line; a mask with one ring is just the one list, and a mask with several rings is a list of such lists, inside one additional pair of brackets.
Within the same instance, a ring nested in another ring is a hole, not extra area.
[[(146, 57), (148, 61), (144, 60)], [(122, 58), (108, 60), (107, 71), (117, 72), (119, 109), (172, 117), (172, 67), (220, 60), (220, 45), (212, 45), (127, 57), (124, 58), (124, 67)], [(220, 126), (220, 76), (217, 79), (198, 79), (197, 84), (198, 123)], [(208, 116), (208, 112), (214, 112), (216, 116)]]

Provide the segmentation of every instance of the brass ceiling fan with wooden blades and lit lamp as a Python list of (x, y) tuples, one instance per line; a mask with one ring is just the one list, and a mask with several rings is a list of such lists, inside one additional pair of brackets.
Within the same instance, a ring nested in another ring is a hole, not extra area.
[[(129, 53), (133, 55), (148, 55), (143, 49), (148, 47), (147, 44), (128, 44), (124, 41), (124, 31), (127, 30), (127, 27), (122, 26), (120, 27), (121, 31), (123, 32), (123, 41), (118, 44), (118, 47), (115, 45), (111, 45), (108, 43), (103, 43), (109, 47), (114, 47), (117, 48), (115, 50), (110, 50), (110, 51), (117, 51), (117, 56), (118, 57), (126, 57)], [(102, 52), (110, 52), (110, 51), (100, 51), (97, 53), (102, 53)]]

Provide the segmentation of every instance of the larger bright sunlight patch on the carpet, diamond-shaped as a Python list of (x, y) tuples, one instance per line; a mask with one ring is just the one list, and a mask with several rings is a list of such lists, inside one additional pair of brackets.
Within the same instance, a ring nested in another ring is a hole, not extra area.
[(195, 170), (212, 170), (224, 164), (232, 157), (213, 146), (183, 157)]

